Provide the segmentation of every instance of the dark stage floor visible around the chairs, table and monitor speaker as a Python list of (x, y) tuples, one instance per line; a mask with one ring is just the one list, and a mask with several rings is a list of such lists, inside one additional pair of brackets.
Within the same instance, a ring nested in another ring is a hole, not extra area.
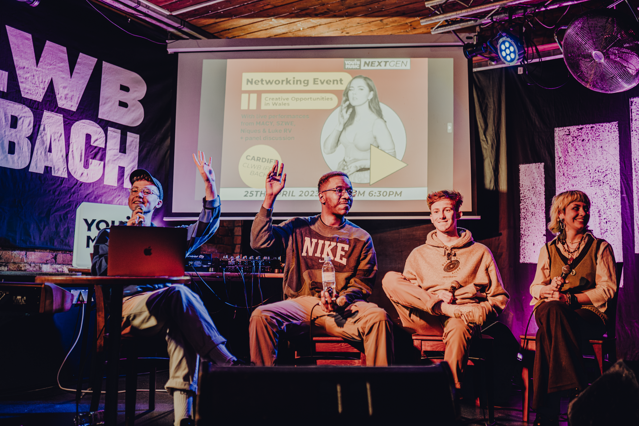
[[(157, 383), (166, 383), (168, 373), (158, 372)], [(124, 377), (120, 378), (120, 389), (124, 389)], [(73, 384), (64, 384), (72, 387)], [(140, 389), (148, 389), (148, 374), (141, 374), (138, 379)], [(161, 388), (161, 386), (157, 386)], [(86, 393), (81, 399), (80, 411), (88, 411), (91, 394)], [(104, 403), (104, 397), (100, 408)], [(535, 418), (530, 413), (530, 423), (521, 422), (521, 392), (513, 389), (509, 400), (510, 408), (495, 408), (495, 420), (500, 426), (529, 426)], [(137, 411), (135, 424), (139, 426), (171, 426), (173, 425), (173, 398), (165, 392), (155, 395), (155, 411), (146, 411), (148, 393), (137, 393)], [(567, 411), (567, 399), (562, 400), (562, 413)], [(72, 426), (75, 415), (75, 395), (59, 390), (58, 386), (45, 388), (35, 392), (0, 395), (0, 424), (3, 426)], [(474, 404), (462, 402), (459, 425), (484, 425), (482, 409)], [(486, 411), (488, 416), (488, 411)], [(398, 418), (398, 420), (400, 420)], [(488, 418), (486, 418), (488, 421)], [(118, 423), (124, 422), (124, 393), (119, 394)], [(300, 423), (297, 423), (300, 424)], [(284, 425), (284, 423), (282, 423)], [(567, 425), (560, 422), (561, 426)]]

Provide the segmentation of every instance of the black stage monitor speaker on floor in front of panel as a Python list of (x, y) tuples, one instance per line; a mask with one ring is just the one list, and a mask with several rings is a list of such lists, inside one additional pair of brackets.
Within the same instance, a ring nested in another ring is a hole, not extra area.
[(196, 425), (449, 425), (447, 363), (429, 367), (217, 367), (202, 363)]

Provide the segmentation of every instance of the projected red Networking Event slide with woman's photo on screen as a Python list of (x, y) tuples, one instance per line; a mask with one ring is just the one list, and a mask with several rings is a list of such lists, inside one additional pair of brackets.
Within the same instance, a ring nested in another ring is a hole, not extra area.
[(316, 200), (332, 170), (357, 199), (426, 199), (428, 61), (228, 59), (222, 199), (263, 199), (275, 160), (287, 172), (278, 199)]

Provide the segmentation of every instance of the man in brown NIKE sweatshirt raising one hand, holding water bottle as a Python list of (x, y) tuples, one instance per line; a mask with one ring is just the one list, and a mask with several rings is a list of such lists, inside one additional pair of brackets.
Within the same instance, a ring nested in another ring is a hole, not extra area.
[[(353, 204), (350, 179), (328, 172), (319, 179), (321, 214), (272, 224), (275, 197), (284, 189), (284, 164), (276, 161), (266, 176), (266, 197), (250, 232), (250, 247), (261, 254), (286, 253), (284, 300), (253, 311), (249, 323), (250, 360), (275, 365), (279, 338), (312, 331), (342, 337), (362, 347), (366, 365), (393, 359), (392, 322), (385, 310), (366, 301), (373, 291), (377, 259), (368, 232), (344, 216)], [(336, 294), (323, 291), (325, 257), (335, 267)], [(286, 344), (286, 340), (283, 342)]]

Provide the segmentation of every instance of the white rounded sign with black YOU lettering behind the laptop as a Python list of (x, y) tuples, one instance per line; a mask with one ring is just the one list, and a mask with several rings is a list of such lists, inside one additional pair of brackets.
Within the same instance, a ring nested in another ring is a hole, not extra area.
[(98, 232), (118, 225), (131, 217), (128, 206), (83, 202), (75, 211), (75, 236), (73, 238), (73, 267), (91, 268), (91, 253)]

